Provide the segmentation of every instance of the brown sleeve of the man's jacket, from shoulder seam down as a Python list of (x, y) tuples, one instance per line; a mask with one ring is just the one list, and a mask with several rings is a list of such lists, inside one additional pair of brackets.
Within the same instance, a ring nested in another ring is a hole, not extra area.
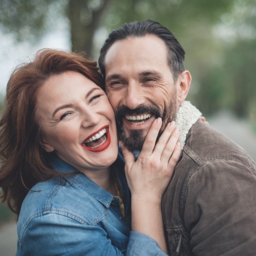
[(185, 226), (193, 255), (255, 255), (255, 169), (235, 161), (208, 162), (188, 182)]

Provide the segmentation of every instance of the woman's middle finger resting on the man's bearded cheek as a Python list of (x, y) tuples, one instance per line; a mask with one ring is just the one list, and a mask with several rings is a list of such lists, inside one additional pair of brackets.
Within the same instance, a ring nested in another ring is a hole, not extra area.
[[(170, 139), (170, 136), (171, 136), (171, 134), (172, 134), (174, 129), (175, 129), (175, 122), (172, 121), (172, 122), (168, 123), (167, 126), (165, 127), (163, 133), (161, 134), (159, 140), (157, 141), (157, 143), (156, 143), (156, 145), (154, 147), (154, 151), (153, 152), (155, 154), (159, 154), (159, 157), (162, 156), (162, 153), (163, 153), (163, 151), (164, 151), (164, 149), (165, 149), (165, 147), (166, 147), (166, 145), (167, 145), (167, 143), (168, 143), (168, 141)], [(175, 144), (176, 144), (176, 142), (175, 142)], [(172, 151), (173, 151), (173, 149), (175, 147), (175, 144), (172, 147)]]

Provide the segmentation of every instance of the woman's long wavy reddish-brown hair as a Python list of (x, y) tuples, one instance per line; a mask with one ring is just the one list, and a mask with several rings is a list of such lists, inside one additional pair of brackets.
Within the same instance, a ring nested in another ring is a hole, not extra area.
[(7, 84), (5, 109), (0, 120), (1, 198), (19, 214), (31, 187), (56, 173), (47, 163), (49, 153), (42, 147), (42, 129), (38, 123), (38, 89), (53, 75), (76, 71), (102, 87), (103, 78), (96, 62), (83, 55), (43, 49), (34, 60), (22, 64)]

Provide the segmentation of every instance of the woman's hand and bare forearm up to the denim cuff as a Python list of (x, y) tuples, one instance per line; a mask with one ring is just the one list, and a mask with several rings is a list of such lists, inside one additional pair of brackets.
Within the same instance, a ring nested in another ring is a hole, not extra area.
[(167, 252), (161, 200), (179, 161), (181, 147), (178, 143), (180, 132), (174, 122), (167, 125), (155, 145), (161, 125), (160, 118), (154, 121), (136, 162), (132, 152), (122, 143), (121, 146), (131, 190), (132, 230), (148, 235)]

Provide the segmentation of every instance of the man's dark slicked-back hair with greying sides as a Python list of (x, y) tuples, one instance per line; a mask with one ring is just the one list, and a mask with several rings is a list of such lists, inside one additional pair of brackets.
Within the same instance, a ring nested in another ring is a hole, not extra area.
[(103, 76), (105, 77), (106, 75), (105, 57), (107, 51), (115, 41), (125, 40), (131, 37), (143, 37), (147, 34), (156, 35), (164, 41), (168, 50), (168, 65), (170, 66), (175, 82), (179, 74), (185, 70), (185, 51), (169, 29), (162, 26), (160, 23), (151, 20), (126, 23), (122, 27), (113, 30), (108, 35), (99, 57), (99, 66)]

